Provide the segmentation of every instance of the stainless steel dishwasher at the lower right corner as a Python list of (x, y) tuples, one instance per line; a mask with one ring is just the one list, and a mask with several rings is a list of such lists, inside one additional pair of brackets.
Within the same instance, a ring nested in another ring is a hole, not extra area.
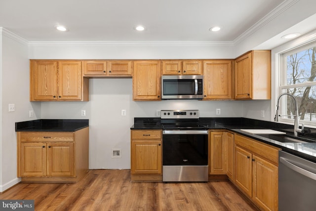
[(316, 163), (279, 151), (278, 210), (316, 211)]

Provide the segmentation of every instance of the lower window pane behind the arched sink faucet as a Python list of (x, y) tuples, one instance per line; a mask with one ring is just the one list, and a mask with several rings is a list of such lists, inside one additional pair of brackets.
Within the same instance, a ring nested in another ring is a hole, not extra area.
[[(297, 99), (299, 120), (316, 122), (316, 86), (304, 86), (297, 88), (283, 89), (282, 92), (293, 94)], [(285, 114), (295, 115), (294, 101), (291, 97), (285, 95), (286, 98), (284, 108)], [(293, 117), (284, 117), (294, 119)]]

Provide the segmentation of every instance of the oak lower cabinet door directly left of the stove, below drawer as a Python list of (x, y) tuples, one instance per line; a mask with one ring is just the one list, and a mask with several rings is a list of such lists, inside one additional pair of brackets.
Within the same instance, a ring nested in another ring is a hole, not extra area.
[(131, 173), (161, 174), (161, 140), (131, 141)]

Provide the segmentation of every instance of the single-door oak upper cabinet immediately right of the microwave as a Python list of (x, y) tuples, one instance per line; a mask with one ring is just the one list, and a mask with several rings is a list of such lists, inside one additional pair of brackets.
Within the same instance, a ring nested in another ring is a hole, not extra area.
[(204, 98), (232, 99), (232, 61), (207, 60), (203, 62)]

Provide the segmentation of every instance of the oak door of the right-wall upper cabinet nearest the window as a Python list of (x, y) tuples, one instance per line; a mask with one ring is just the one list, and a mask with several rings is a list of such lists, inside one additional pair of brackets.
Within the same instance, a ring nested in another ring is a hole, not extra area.
[(235, 98), (252, 98), (252, 56), (251, 52), (236, 59)]

